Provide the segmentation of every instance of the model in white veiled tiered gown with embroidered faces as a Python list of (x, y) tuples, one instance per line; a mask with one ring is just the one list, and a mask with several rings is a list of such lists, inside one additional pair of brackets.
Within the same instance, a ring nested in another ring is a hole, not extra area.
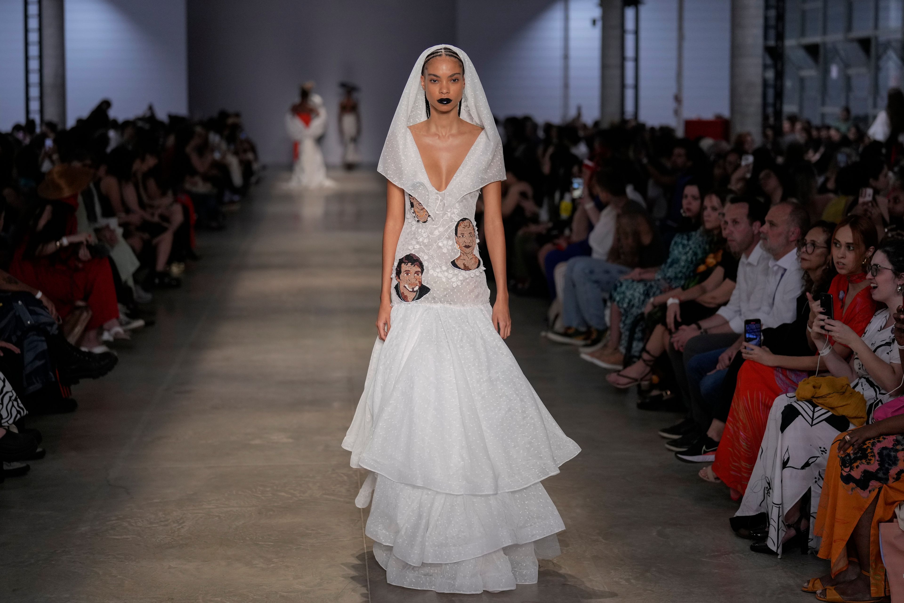
[[(424, 51), (377, 168), (387, 184), (379, 338), (343, 447), (391, 584), (438, 592), (537, 581), (565, 528), (541, 480), (579, 452), (503, 339), (511, 330), (502, 142), (474, 65)], [(476, 250), (483, 192), (497, 295)]]

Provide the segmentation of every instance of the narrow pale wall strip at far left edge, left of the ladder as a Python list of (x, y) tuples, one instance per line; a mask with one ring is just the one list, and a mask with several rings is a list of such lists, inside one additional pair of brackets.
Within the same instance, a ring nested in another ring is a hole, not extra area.
[(0, 0), (0, 130), (25, 119), (25, 40), (22, 0)]

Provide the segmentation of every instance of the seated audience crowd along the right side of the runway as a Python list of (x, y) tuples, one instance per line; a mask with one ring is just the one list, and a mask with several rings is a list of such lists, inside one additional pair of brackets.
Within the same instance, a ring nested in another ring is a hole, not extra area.
[(543, 335), (681, 413), (664, 448), (738, 501), (725, 527), (751, 551), (829, 560), (801, 584), (821, 600), (886, 596), (904, 574), (878, 544), (904, 503), (901, 90), (871, 123), (844, 108), (779, 136), (499, 128), (509, 288), (550, 299)]

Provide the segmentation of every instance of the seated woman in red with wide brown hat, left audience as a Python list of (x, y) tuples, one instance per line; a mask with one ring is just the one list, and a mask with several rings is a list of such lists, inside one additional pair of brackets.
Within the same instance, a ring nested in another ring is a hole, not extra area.
[(80, 345), (103, 352), (101, 328), (113, 335), (122, 328), (109, 259), (92, 257), (93, 235), (78, 232), (79, 193), (92, 178), (92, 170), (74, 165), (57, 165), (47, 174), (38, 186), (43, 205), (15, 250), (9, 272), (50, 297), (62, 318), (76, 306), (89, 306), (91, 317)]

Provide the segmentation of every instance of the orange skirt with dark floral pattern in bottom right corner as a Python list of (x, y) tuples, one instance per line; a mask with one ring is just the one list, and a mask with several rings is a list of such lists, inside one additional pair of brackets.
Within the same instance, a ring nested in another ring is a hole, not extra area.
[[(870, 591), (873, 597), (889, 594), (885, 579), (885, 566), (879, 547), (879, 524), (895, 519), (895, 508), (904, 502), (904, 481), (892, 481), (881, 485), (868, 494), (842, 482), (842, 467), (838, 457), (838, 442), (844, 438), (839, 434), (829, 451), (828, 465), (825, 467), (823, 494), (819, 498), (819, 512), (816, 514), (814, 533), (822, 537), (819, 556), (832, 564), (832, 575), (837, 576), (848, 567), (847, 542), (863, 513), (876, 500), (876, 511), (870, 526)], [(876, 438), (879, 439), (879, 438)], [(870, 446), (876, 439), (867, 440), (863, 446)], [(855, 554), (855, 551), (851, 551)], [(860, 560), (861, 569), (864, 562)]]

